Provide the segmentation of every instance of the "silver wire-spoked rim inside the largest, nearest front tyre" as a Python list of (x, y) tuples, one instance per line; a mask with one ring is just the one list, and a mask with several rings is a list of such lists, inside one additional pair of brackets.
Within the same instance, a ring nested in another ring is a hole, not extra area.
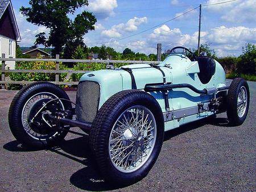
[(154, 115), (144, 106), (133, 106), (116, 120), (109, 138), (112, 164), (130, 173), (143, 166), (150, 157), (156, 140)]

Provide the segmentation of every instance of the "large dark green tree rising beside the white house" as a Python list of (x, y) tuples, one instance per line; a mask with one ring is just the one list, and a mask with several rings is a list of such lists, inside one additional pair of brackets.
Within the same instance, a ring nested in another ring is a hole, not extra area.
[(50, 30), (48, 37), (45, 32), (37, 34), (35, 44), (53, 47), (53, 55), (60, 54), (64, 45), (66, 56), (70, 54), (67, 47), (83, 45), (82, 36), (94, 30), (93, 25), (97, 21), (95, 16), (87, 11), (82, 11), (73, 20), (68, 18), (68, 14), (74, 14), (79, 7), (88, 6), (88, 0), (30, 0), (29, 4), (31, 7), (20, 8), (27, 21)]

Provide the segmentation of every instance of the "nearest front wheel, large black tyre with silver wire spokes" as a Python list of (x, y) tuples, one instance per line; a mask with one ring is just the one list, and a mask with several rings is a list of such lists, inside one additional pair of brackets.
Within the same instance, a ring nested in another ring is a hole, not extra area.
[(125, 90), (98, 111), (90, 147), (105, 180), (121, 186), (147, 175), (163, 138), (163, 114), (155, 98), (144, 91)]

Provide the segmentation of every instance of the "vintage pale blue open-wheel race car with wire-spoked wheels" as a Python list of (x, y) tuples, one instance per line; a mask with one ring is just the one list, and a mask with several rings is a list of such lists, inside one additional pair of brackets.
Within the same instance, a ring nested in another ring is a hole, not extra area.
[(158, 65), (85, 73), (76, 103), (49, 82), (25, 86), (11, 103), (9, 125), (20, 143), (36, 149), (57, 145), (69, 128), (80, 127), (89, 134), (102, 176), (126, 185), (150, 171), (165, 131), (225, 111), (233, 126), (244, 122), (250, 102), (247, 82), (236, 78), (227, 86), (225, 80), (214, 59), (175, 47)]

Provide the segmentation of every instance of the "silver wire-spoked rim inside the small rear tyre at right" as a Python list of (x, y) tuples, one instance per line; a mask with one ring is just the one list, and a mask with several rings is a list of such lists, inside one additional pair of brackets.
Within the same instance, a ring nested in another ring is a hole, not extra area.
[(240, 88), (240, 91), (238, 93), (237, 97), (237, 114), (240, 118), (245, 114), (247, 106), (247, 91), (245, 86), (242, 86)]

